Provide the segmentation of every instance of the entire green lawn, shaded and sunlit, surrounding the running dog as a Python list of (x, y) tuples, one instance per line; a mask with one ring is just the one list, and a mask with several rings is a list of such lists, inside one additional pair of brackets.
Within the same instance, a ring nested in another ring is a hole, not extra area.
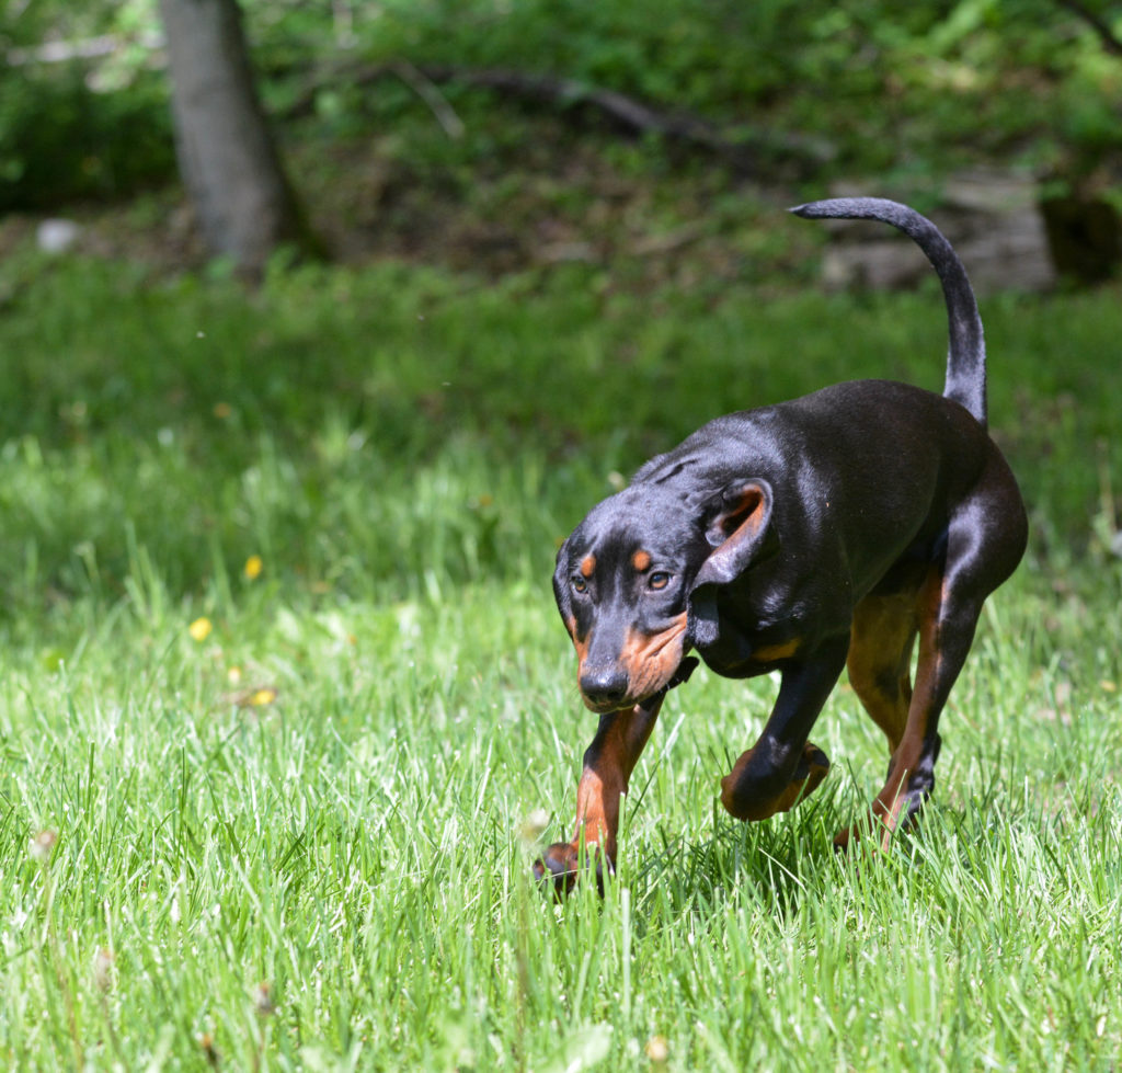
[(615, 881), (557, 906), (530, 864), (570, 828), (592, 723), (555, 540), (710, 415), (937, 386), (937, 295), (385, 268), (247, 302), (4, 272), (0, 1062), (1118, 1067), (1116, 291), (984, 309), (1033, 543), (921, 831), (831, 852), (885, 759), (844, 685), (826, 786), (732, 822), (717, 780), (775, 686), (701, 671), (636, 771)]

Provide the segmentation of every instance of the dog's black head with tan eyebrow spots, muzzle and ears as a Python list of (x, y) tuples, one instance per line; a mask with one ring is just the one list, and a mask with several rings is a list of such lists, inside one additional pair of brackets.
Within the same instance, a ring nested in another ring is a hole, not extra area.
[(640, 483), (598, 504), (558, 552), (553, 593), (585, 704), (611, 712), (666, 689), (719, 636), (719, 595), (770, 544), (771, 486), (681, 494)]

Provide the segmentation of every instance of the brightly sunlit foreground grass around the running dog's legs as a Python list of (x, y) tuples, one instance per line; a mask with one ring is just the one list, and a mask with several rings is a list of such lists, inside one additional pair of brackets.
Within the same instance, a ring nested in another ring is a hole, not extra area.
[[(1006, 631), (1029, 596), (1002, 597)], [(617, 880), (557, 907), (521, 833), (542, 808), (569, 827), (591, 725), (544, 595), (214, 622), (120, 608), (73, 666), (6, 676), (13, 1064), (196, 1065), (206, 1039), (282, 1067), (645, 1067), (656, 1037), (675, 1069), (1116, 1058), (1122, 721), (1101, 682), (1057, 709), (1069, 679), (1020, 673), (1011, 632), (985, 631), (892, 853), (830, 849), (884, 763), (847, 690), (820, 799), (745, 827), (716, 780), (774, 686), (699, 673), (636, 772)]]

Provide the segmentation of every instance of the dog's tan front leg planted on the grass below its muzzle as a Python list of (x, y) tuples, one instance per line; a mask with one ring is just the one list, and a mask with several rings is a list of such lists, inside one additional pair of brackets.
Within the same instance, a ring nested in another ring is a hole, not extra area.
[(539, 880), (551, 877), (558, 895), (568, 893), (580, 871), (581, 846), (596, 861), (598, 877), (610, 870), (616, 859), (619, 829), (619, 798), (627, 792), (643, 746), (654, 730), (665, 696), (660, 693), (646, 704), (600, 716), (592, 744), (585, 753), (585, 770), (577, 787), (577, 832), (572, 842), (557, 842), (534, 862)]

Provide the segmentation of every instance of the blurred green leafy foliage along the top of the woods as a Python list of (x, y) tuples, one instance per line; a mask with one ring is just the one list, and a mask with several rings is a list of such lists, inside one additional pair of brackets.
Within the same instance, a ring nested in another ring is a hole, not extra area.
[[(166, 86), (150, 70), (153, 0), (79, 6), (39, 0), (0, 13), (0, 44), (111, 34), (108, 56), (0, 67), (0, 209), (76, 193), (130, 191), (171, 168)], [(364, 84), (385, 61), (565, 75), (687, 108), (743, 138), (762, 177), (782, 147), (813, 137), (811, 166), (830, 174), (940, 175), (1000, 158), (1063, 184), (1103, 185), (1116, 161), (1122, 62), (1049, 0), (353, 0), (242, 7), (273, 112), (311, 92), (314, 123), (368, 135), (427, 114), (416, 85)], [(1118, 6), (1101, 3), (1110, 25)], [(310, 86), (313, 89), (310, 91)], [(489, 152), (496, 112), (519, 104), (456, 85), (466, 118), (453, 157)], [(427, 118), (432, 138), (443, 139)], [(809, 144), (809, 143), (807, 143)], [(824, 156), (825, 153), (825, 156)], [(58, 166), (44, 172), (43, 159)], [(66, 166), (67, 161), (77, 166)], [(1107, 183), (1109, 185), (1109, 183)]]

